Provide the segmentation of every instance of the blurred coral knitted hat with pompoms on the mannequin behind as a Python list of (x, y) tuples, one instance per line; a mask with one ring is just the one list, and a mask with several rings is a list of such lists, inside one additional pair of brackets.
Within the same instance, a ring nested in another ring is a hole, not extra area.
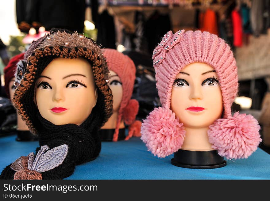
[(113, 141), (117, 141), (121, 120), (129, 126), (128, 140), (132, 136), (141, 136), (141, 121), (135, 121), (139, 110), (139, 103), (131, 99), (135, 81), (136, 67), (133, 61), (121, 52), (114, 49), (103, 49), (103, 55), (108, 63), (109, 70), (113, 70), (120, 78), (123, 87), (123, 96), (118, 111)]

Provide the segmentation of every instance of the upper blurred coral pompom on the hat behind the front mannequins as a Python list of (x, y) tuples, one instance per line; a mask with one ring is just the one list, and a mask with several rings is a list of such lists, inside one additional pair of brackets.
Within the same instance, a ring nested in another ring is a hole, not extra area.
[(123, 111), (123, 118), (125, 124), (130, 125), (135, 121), (136, 115), (139, 111), (139, 103), (135, 99), (130, 99)]

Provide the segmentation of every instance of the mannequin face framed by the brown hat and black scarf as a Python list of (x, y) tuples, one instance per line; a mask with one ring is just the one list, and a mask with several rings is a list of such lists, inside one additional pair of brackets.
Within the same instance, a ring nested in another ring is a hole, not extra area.
[(37, 108), (55, 125), (81, 125), (97, 102), (91, 65), (82, 58), (56, 58), (35, 84)]

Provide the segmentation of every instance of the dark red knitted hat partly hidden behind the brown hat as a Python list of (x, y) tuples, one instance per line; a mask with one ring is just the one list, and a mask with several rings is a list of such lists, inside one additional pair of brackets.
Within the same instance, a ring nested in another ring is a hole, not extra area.
[(7, 64), (7, 66), (4, 68), (4, 76), (5, 76), (5, 90), (6, 95), (10, 98), (10, 90), (9, 90), (9, 84), (10, 80), (15, 77), (15, 72), (17, 69), (17, 63), (23, 59), (24, 53), (15, 55), (12, 57)]

